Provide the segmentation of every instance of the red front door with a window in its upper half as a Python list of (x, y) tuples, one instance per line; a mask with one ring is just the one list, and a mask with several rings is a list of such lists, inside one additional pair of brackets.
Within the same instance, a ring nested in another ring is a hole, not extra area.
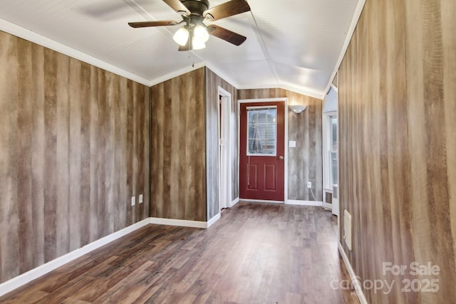
[(283, 102), (241, 104), (241, 199), (284, 201), (284, 122)]

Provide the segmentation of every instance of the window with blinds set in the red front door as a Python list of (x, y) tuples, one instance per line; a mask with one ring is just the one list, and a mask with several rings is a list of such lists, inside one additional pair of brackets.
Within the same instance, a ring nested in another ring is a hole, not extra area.
[(277, 108), (247, 108), (247, 155), (276, 156)]

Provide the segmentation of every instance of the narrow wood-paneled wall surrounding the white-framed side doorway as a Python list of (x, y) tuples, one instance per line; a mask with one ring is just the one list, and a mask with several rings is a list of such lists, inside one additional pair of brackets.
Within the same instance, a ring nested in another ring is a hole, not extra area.
[(219, 163), (218, 163), (218, 88), (231, 94), (231, 120), (232, 120), (232, 201), (239, 197), (239, 153), (237, 141), (237, 89), (216, 73), (206, 68), (206, 103), (207, 103), (207, 212), (208, 219), (219, 213)]

